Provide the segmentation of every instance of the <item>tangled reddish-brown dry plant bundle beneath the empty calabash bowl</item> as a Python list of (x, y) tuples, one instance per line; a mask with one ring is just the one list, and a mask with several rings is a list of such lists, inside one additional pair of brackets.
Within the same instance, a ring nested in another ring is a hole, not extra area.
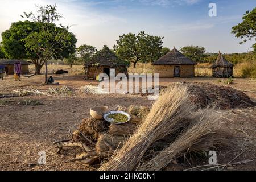
[[(97, 140), (101, 133), (104, 133), (109, 129), (109, 123), (100, 119), (86, 118), (82, 119), (81, 125), (79, 126), (80, 133), (73, 134), (75, 140), (85, 142), (86, 140), (82, 137), (82, 134), (89, 137), (91, 140)], [(82, 133), (82, 134), (81, 134)]]

